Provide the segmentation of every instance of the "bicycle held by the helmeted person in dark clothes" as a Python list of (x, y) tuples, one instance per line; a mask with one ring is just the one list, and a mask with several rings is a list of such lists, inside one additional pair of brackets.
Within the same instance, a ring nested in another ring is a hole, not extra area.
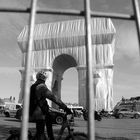
[[(88, 137), (85, 133), (83, 132), (74, 132), (74, 129), (72, 126), (74, 125), (74, 119), (73, 115), (66, 114), (64, 117), (64, 122), (62, 123), (62, 126), (59, 130), (58, 135), (56, 136), (55, 140), (62, 140), (62, 136), (64, 133), (64, 130), (67, 128), (68, 134), (64, 137), (64, 140), (88, 140)], [(10, 136), (8, 137), (7, 140), (20, 140), (20, 131), (19, 130), (11, 130), (10, 131)], [(28, 140), (34, 139), (34, 136), (32, 136), (31, 131), (28, 131)]]

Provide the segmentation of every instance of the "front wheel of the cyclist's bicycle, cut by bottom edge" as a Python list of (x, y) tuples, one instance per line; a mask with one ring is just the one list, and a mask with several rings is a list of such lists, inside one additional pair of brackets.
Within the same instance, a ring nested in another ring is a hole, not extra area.
[(68, 135), (65, 140), (88, 140), (88, 137), (85, 133), (75, 132), (73, 134)]

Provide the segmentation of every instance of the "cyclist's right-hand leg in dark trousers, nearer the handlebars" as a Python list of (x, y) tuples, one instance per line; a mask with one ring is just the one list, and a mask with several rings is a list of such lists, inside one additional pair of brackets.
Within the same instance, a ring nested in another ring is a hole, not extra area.
[(52, 118), (49, 113), (46, 114), (46, 127), (47, 127), (47, 133), (50, 140), (54, 140), (53, 135), (53, 128), (52, 128)]

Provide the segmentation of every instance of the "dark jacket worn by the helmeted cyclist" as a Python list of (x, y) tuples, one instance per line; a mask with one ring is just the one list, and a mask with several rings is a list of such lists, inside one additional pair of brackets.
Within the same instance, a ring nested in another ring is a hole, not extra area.
[(30, 117), (33, 116), (33, 119), (36, 120), (44, 119), (44, 116), (49, 110), (49, 105), (46, 98), (59, 105), (62, 109), (66, 108), (66, 105), (48, 90), (44, 81), (37, 80), (30, 89)]

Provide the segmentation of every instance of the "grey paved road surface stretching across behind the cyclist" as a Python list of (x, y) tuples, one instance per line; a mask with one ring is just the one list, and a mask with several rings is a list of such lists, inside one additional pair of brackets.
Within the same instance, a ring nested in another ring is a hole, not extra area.
[[(6, 140), (10, 129), (20, 129), (21, 123), (14, 118), (0, 117), (0, 140)], [(35, 124), (29, 124), (35, 132)], [(60, 126), (54, 125), (55, 135)], [(87, 122), (82, 118), (75, 119), (75, 131), (87, 133)], [(103, 119), (95, 122), (96, 140), (140, 140), (140, 119)]]

